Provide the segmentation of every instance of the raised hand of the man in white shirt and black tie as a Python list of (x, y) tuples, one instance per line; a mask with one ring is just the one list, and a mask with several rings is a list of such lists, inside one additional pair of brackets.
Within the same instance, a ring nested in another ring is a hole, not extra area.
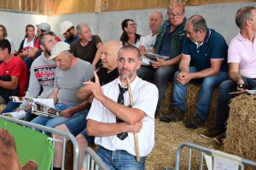
[(99, 82), (99, 77), (94, 71), (95, 82), (83, 82), (84, 90), (91, 90), (92, 94), (95, 96), (96, 99), (100, 99), (104, 94), (102, 93), (102, 87)]

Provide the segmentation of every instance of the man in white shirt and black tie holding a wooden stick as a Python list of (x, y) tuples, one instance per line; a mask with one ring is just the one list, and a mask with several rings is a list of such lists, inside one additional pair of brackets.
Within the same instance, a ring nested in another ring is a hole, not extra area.
[[(158, 90), (150, 82), (137, 77), (140, 65), (139, 50), (126, 45), (119, 50), (119, 78), (102, 88), (96, 74), (96, 82), (84, 83), (84, 89), (91, 90), (95, 96), (87, 116), (87, 133), (96, 136), (97, 155), (110, 169), (145, 169), (146, 157), (154, 147)], [(126, 91), (126, 77), (130, 78), (131, 96)], [(129, 96), (134, 105), (131, 105)], [(137, 133), (139, 139), (139, 162), (133, 133)]]

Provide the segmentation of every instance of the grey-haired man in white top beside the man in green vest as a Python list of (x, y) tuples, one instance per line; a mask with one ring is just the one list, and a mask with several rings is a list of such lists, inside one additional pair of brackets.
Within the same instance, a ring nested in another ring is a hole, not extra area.
[(141, 55), (148, 54), (148, 52), (152, 51), (152, 49), (154, 48), (154, 42), (155, 42), (157, 33), (159, 32), (160, 26), (162, 24), (163, 24), (163, 15), (159, 11), (154, 11), (149, 15), (148, 25), (152, 33), (143, 39), (143, 42), (139, 47)]

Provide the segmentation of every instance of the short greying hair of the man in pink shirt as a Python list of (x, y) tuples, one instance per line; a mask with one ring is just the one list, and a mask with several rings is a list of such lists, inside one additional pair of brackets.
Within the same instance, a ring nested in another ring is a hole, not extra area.
[(253, 13), (251, 12), (253, 8), (255, 7), (248, 6), (238, 9), (238, 11), (236, 12), (236, 26), (241, 28), (245, 25), (246, 20), (253, 20)]

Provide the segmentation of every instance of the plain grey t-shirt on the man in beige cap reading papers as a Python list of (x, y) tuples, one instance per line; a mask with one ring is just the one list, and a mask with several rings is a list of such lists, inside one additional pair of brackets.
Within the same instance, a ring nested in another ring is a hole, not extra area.
[(77, 93), (83, 86), (83, 82), (90, 81), (94, 76), (93, 71), (92, 65), (82, 59), (79, 59), (78, 63), (67, 71), (62, 71), (60, 67), (57, 67), (54, 88), (59, 88), (58, 102), (66, 105), (82, 103), (82, 100), (77, 98)]

